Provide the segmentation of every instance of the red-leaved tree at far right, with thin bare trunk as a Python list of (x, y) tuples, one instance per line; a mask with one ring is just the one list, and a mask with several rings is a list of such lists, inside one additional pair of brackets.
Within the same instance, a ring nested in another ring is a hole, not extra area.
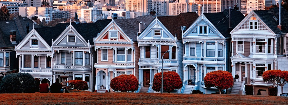
[(271, 81), (276, 85), (279, 85), (281, 87), (281, 93), (283, 93), (283, 86), (288, 81), (288, 71), (281, 71), (281, 70), (268, 70), (264, 71), (263, 80)]

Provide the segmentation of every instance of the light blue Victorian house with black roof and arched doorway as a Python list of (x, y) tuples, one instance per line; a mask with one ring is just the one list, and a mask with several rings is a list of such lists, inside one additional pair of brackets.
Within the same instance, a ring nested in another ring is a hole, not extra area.
[[(220, 13), (202, 13), (198, 19), (182, 34), (183, 37), (183, 81), (191, 80), (193, 89), (204, 93), (214, 93), (216, 88), (206, 88), (204, 77), (215, 70), (230, 70), (229, 27), (235, 27), (244, 19), (240, 11), (229, 10)], [(227, 19), (227, 20), (224, 20)], [(230, 28), (232, 30), (232, 28)]]

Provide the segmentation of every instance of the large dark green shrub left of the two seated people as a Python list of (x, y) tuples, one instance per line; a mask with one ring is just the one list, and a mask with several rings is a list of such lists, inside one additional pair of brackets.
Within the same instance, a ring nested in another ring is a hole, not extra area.
[(6, 75), (0, 84), (1, 93), (35, 92), (35, 78), (29, 73), (11, 73)]

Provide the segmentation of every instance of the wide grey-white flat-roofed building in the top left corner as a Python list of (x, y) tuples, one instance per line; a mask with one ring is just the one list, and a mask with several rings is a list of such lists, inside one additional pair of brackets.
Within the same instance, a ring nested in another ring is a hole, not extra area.
[(20, 1), (0, 1), (0, 7), (6, 5), (9, 13), (18, 13), (18, 7), (27, 7), (27, 3), (22, 3)]

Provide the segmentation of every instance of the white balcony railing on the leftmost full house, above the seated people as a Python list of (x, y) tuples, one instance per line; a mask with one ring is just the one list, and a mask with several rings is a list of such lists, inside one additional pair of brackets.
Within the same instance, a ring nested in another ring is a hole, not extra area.
[(28, 72), (28, 73), (41, 73), (41, 74), (52, 74), (52, 69), (41, 69), (41, 68), (20, 68), (20, 72)]

